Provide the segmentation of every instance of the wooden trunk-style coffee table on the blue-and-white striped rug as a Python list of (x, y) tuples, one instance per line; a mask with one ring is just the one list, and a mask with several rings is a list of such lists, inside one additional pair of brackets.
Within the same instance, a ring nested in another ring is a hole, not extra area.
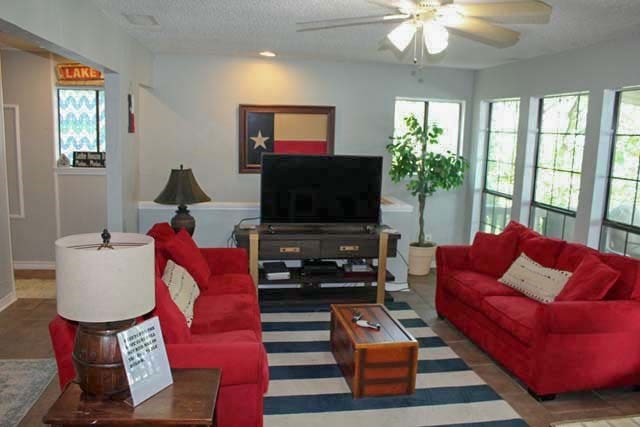
[[(356, 325), (354, 312), (381, 329)], [(418, 342), (381, 304), (333, 304), (331, 351), (354, 399), (415, 392)]]

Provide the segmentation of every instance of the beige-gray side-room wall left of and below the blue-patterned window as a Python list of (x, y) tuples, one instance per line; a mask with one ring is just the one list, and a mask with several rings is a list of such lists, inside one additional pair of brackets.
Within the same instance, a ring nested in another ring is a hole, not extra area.
[[(55, 171), (55, 61), (47, 54), (20, 51), (2, 51), (0, 56), (4, 102), (18, 105), (20, 111), (25, 209), (24, 218), (11, 219), (13, 260), (18, 266), (45, 267), (55, 261), (56, 238), (106, 226), (106, 176), (104, 171)], [(14, 193), (15, 179), (8, 183)]]

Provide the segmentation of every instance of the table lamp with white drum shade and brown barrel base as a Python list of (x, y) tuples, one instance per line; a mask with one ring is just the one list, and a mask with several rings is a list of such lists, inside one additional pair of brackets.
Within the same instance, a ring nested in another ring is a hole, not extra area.
[(58, 239), (58, 314), (79, 322), (73, 349), (76, 381), (88, 398), (129, 394), (117, 334), (155, 307), (154, 241), (132, 233)]

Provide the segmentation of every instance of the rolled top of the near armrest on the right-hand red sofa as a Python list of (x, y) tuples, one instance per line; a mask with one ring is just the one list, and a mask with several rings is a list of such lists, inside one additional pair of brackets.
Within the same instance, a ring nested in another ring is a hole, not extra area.
[(548, 334), (640, 333), (640, 301), (563, 301), (544, 305)]

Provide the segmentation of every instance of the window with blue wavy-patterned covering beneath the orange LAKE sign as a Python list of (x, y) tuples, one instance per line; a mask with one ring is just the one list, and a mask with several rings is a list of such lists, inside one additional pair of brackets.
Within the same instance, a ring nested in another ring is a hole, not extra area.
[(58, 156), (106, 149), (104, 90), (58, 89)]

